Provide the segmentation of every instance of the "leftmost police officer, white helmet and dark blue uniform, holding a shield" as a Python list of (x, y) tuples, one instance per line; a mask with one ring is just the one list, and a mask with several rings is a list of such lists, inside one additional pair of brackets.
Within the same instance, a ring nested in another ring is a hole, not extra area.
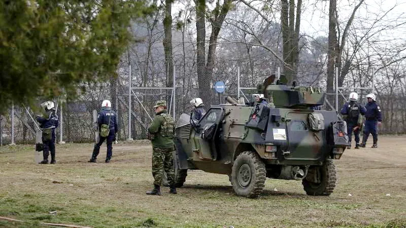
[(59, 125), (58, 116), (55, 113), (55, 104), (45, 101), (41, 104), (45, 110), (45, 117), (37, 116), (37, 121), (42, 129), (42, 142), (44, 144), (44, 160), (40, 164), (48, 164), (49, 152), (51, 151), (51, 164), (55, 164), (55, 129)]

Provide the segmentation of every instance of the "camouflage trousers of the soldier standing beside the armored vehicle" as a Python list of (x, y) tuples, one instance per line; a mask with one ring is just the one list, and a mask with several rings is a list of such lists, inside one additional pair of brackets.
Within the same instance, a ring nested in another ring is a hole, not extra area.
[(163, 171), (166, 173), (168, 183), (170, 185), (174, 184), (175, 169), (172, 155), (174, 147), (153, 147), (152, 149), (152, 176), (154, 177), (154, 184), (162, 184)]

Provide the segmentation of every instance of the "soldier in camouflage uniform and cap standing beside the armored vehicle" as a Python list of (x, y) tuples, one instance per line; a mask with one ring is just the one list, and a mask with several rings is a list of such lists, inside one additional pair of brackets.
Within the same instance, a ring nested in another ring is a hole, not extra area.
[(146, 192), (147, 195), (161, 195), (163, 171), (166, 172), (170, 184), (170, 193), (177, 194), (174, 186), (175, 170), (173, 166), (174, 151), (174, 119), (166, 112), (166, 101), (159, 100), (154, 106), (155, 118), (148, 128), (149, 139), (152, 142), (152, 176), (154, 189)]

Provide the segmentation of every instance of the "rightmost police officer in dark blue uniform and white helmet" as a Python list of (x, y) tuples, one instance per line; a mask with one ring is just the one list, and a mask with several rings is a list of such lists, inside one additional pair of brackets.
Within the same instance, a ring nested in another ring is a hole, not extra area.
[(362, 137), (362, 147), (365, 147), (366, 140), (368, 139), (369, 133), (372, 134), (374, 139), (374, 144), (372, 148), (378, 147), (378, 129), (377, 126), (382, 125), (382, 111), (381, 107), (377, 103), (377, 97), (375, 94), (370, 93), (366, 95), (368, 99), (368, 103), (365, 105), (366, 112), (365, 112), (365, 127), (364, 127), (364, 136)]

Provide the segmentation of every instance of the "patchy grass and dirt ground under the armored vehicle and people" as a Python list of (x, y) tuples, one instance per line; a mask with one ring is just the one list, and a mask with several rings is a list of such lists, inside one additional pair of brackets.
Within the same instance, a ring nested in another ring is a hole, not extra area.
[[(148, 141), (114, 145), (113, 159), (87, 163), (91, 144), (57, 145), (57, 164), (34, 163), (33, 146), (0, 147), (0, 220), (6, 227), (55, 222), (92, 227), (405, 227), (406, 136), (380, 136), (379, 148), (347, 149), (334, 160), (330, 197), (307, 196), (299, 181), (267, 179), (258, 199), (235, 196), (226, 175), (188, 171), (178, 195), (147, 196)], [(57, 214), (50, 215), (50, 211)]]

